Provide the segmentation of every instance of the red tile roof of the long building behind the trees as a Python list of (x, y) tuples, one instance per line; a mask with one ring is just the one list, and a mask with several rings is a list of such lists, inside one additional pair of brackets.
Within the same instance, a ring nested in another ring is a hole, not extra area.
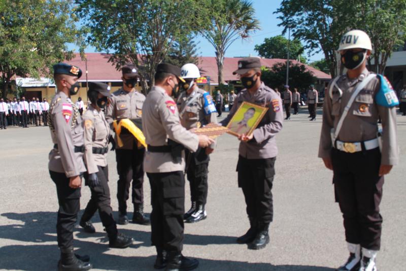
[[(106, 53), (86, 53), (87, 57), (87, 70), (88, 70), (88, 80), (89, 81), (121, 81), (121, 72), (117, 71), (115, 66), (112, 63), (108, 62), (109, 54)], [(232, 72), (236, 70), (238, 66), (239, 57), (225, 57), (224, 58), (224, 68), (223, 76), (225, 81), (237, 80), (236, 75), (232, 75)], [(261, 58), (261, 64), (266, 67), (272, 67), (277, 63), (286, 62), (286, 59), (267, 59)], [(298, 62), (291, 60), (293, 64)], [(77, 53), (75, 58), (71, 61), (67, 61), (71, 65), (78, 66), (82, 71), (83, 75), (80, 78), (80, 81), (86, 81), (85, 74), (85, 61), (82, 61), (80, 55)], [(311, 71), (313, 75), (318, 79), (331, 79), (331, 76), (319, 71), (311, 66), (306, 66), (307, 70)], [(217, 64), (215, 57), (203, 56), (199, 57), (199, 69), (201, 70), (202, 76), (210, 76), (211, 84), (218, 84), (217, 81)]]

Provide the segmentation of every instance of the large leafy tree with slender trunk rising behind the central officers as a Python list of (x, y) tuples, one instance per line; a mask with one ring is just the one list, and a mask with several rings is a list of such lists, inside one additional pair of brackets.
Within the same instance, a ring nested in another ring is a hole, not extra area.
[(85, 19), (87, 41), (98, 51), (113, 52), (119, 69), (132, 63), (140, 72), (144, 93), (154, 84), (156, 66), (172, 44), (202, 28), (207, 10), (198, 0), (77, 0)]

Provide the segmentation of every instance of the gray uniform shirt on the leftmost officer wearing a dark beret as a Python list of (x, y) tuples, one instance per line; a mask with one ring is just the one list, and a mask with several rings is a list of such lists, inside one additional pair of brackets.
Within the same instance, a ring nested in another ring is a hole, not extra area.
[(75, 146), (84, 144), (79, 109), (66, 94), (58, 92), (52, 99), (48, 119), (52, 143), (58, 144), (58, 149), (49, 153), (49, 170), (65, 173), (66, 177), (85, 172), (83, 153), (75, 153)]

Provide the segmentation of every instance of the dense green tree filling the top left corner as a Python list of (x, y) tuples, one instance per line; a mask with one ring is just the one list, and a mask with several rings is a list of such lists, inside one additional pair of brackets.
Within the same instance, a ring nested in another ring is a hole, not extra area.
[(2, 97), (15, 76), (49, 76), (52, 65), (71, 59), (66, 43), (78, 41), (72, 1), (0, 0)]

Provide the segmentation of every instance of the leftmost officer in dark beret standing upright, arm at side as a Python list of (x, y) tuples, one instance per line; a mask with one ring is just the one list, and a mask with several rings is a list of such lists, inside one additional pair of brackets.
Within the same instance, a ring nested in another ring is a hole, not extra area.
[[(73, 252), (73, 229), (80, 210), (83, 162), (83, 123), (71, 95), (79, 91), (82, 71), (75, 66), (59, 63), (53, 66), (58, 92), (51, 102), (48, 125), (54, 147), (49, 154), (49, 173), (56, 185), (59, 210), (56, 224), (58, 247), (61, 252), (58, 270), (89, 270), (88, 257)], [(87, 258), (87, 259), (86, 259)]]

